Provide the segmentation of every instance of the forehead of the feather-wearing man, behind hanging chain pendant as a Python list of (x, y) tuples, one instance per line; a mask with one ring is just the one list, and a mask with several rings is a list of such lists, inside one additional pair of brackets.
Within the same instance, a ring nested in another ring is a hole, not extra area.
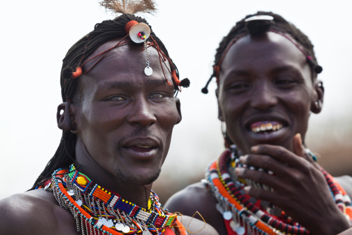
[[(92, 58), (103, 51), (114, 47), (117, 42), (121, 39), (112, 40), (102, 44), (97, 48), (96, 51), (89, 56)], [(83, 67), (83, 72), (89, 70), (95, 63), (92, 70), (90, 70), (85, 76), (80, 79), (81, 85), (84, 83), (98, 84), (98, 88), (106, 88), (109, 83), (116, 83), (122, 87), (139, 87), (142, 88), (148, 84), (162, 84), (165, 83), (166, 78), (171, 81), (171, 74), (169, 73), (170, 67), (169, 62), (161, 63), (159, 60), (158, 51), (155, 48), (149, 47), (148, 58), (149, 66), (153, 69), (151, 76), (144, 74), (144, 68), (146, 67), (146, 54), (142, 51), (143, 44), (124, 44), (121, 47), (112, 49), (106, 56), (104, 56), (98, 63), (97, 61), (100, 56), (86, 63)], [(165, 76), (164, 76), (165, 72)], [(169, 86), (172, 90), (174, 86)]]

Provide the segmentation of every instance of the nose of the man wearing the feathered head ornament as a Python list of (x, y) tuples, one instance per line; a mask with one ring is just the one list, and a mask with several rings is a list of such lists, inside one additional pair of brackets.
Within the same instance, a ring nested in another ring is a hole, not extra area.
[(156, 115), (153, 113), (153, 108), (146, 99), (135, 100), (131, 114), (128, 115), (129, 124), (140, 124), (142, 127), (148, 127), (156, 123)]

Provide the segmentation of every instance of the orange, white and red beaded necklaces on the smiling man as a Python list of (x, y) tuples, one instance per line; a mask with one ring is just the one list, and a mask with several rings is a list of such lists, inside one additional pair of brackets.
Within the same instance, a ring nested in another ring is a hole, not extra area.
[[(207, 183), (219, 202), (217, 209), (224, 216), (228, 234), (310, 234), (307, 229), (299, 225), (298, 222), (294, 222), (283, 211), (280, 216), (272, 216), (260, 208), (260, 200), (257, 202), (251, 200), (251, 197), (243, 191), (243, 181), (240, 181), (234, 173), (238, 158), (237, 147), (232, 145), (221, 154), (219, 159), (210, 163), (206, 172)], [(323, 168), (321, 171), (326, 178), (337, 207), (351, 224), (352, 207), (349, 195), (328, 172)], [(253, 182), (247, 183), (255, 184)], [(265, 186), (260, 185), (260, 187)], [(270, 190), (270, 188), (267, 189)]]

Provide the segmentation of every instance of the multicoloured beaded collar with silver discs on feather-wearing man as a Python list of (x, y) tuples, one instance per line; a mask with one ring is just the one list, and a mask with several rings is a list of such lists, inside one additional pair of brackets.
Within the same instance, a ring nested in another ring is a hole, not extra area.
[(176, 214), (164, 211), (153, 191), (144, 209), (94, 184), (74, 164), (53, 172), (51, 184), (45, 186), (50, 188), (59, 205), (71, 211), (82, 234), (174, 234), (171, 227), (176, 227), (187, 235)]

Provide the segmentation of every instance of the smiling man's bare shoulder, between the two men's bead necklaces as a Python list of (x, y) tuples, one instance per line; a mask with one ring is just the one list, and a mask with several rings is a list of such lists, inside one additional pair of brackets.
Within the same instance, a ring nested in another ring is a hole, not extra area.
[(199, 182), (191, 184), (172, 195), (165, 203), (164, 208), (171, 212), (180, 212), (187, 216), (193, 214), (205, 204), (216, 204), (215, 197), (212, 197), (206, 186)]

